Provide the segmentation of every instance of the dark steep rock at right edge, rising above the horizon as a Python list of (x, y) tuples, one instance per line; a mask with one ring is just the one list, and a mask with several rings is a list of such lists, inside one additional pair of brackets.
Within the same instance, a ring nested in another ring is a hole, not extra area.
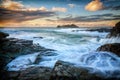
[(120, 37), (120, 22), (112, 28), (111, 32), (107, 35), (107, 38)]

